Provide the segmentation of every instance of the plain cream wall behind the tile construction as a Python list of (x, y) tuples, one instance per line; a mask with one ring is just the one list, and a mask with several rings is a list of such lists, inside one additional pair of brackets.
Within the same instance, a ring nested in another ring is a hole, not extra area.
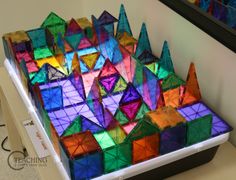
[[(118, 17), (124, 3), (135, 37), (146, 22), (152, 49), (160, 55), (162, 43), (170, 45), (176, 72), (186, 78), (195, 62), (203, 99), (236, 127), (236, 54), (177, 15), (157, 0), (0, 0), (0, 33), (30, 29), (41, 24), (50, 11), (61, 17), (99, 16), (106, 9)], [(4, 2), (4, 3), (2, 3)], [(23, 8), (25, 6), (25, 8)], [(20, 7), (20, 8), (19, 8)], [(9, 12), (11, 9), (12, 12)], [(7, 15), (8, 14), (8, 15)], [(0, 57), (3, 59), (2, 47)], [(236, 131), (231, 135), (236, 145)]]

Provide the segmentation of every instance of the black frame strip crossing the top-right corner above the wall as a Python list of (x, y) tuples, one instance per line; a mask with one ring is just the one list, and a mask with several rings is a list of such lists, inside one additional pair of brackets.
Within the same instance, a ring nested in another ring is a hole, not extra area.
[(236, 31), (186, 0), (159, 0), (236, 53)]

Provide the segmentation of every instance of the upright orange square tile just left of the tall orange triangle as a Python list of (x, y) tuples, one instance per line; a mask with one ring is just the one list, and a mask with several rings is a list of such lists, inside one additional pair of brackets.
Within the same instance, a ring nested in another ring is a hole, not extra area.
[(163, 92), (166, 106), (179, 107), (180, 102), (180, 88), (170, 89)]

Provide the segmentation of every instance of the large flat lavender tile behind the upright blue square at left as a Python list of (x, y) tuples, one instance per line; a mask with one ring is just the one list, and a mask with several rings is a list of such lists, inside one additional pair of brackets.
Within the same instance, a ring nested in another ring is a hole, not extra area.
[(56, 81), (56, 82), (52, 82), (48, 84), (43, 84), (43, 85), (40, 85), (40, 89), (41, 90), (48, 89), (48, 88), (52, 88), (56, 86), (62, 87), (64, 107), (70, 106), (73, 104), (78, 104), (84, 101), (70, 80), (62, 80), (62, 81)]

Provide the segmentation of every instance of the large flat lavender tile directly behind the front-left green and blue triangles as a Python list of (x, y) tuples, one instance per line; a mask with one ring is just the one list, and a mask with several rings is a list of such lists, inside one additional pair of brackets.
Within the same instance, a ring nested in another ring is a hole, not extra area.
[(83, 115), (90, 121), (93, 121), (94, 123), (101, 126), (97, 118), (94, 116), (94, 114), (86, 104), (66, 107), (61, 110), (52, 111), (49, 112), (48, 115), (59, 136), (62, 135), (62, 133), (78, 115)]

